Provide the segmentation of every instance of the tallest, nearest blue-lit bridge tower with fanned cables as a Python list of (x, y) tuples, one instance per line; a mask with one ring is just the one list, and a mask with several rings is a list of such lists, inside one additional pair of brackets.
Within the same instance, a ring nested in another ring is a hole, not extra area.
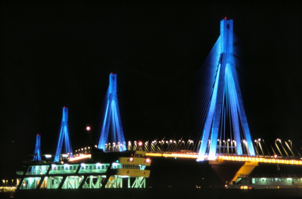
[(207, 152), (208, 159), (216, 159), (219, 148), (217, 142), (221, 141), (221, 135), (224, 136), (227, 132), (226, 127), (234, 140), (232, 144), (236, 154), (242, 155), (244, 147), (248, 155), (255, 155), (233, 56), (236, 53), (233, 51), (233, 20), (224, 18), (220, 21), (220, 37), (207, 58), (207, 66), (213, 72), (210, 76), (210, 101), (198, 161), (204, 160)]

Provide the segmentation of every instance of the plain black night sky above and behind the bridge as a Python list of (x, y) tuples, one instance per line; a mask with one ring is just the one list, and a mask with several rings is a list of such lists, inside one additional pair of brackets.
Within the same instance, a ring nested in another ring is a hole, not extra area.
[[(72, 147), (98, 142), (109, 73), (117, 73), (126, 142), (175, 137), (194, 82), (234, 20), (253, 139), (302, 142), (301, 2), (1, 3), (1, 167), (13, 178), (41, 135), (55, 153), (62, 107)], [(171, 128), (172, 128), (171, 127)], [(169, 135), (169, 133), (171, 135)]]

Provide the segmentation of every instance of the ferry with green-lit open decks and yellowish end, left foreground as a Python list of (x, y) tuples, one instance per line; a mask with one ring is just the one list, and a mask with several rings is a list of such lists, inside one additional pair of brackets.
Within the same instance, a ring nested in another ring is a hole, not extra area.
[(27, 161), (22, 171), (16, 172), (19, 183), (14, 196), (33, 194), (33, 190), (98, 189), (101, 193), (105, 189), (145, 188), (150, 175), (145, 168), (151, 159), (143, 151), (103, 152), (93, 148), (91, 154), (73, 158), (61, 155), (60, 160)]

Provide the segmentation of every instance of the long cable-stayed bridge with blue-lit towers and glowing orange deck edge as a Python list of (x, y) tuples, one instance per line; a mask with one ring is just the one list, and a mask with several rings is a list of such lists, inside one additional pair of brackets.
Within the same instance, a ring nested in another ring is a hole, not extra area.
[[(202, 108), (198, 109), (201, 110), (203, 119), (198, 121), (201, 128), (195, 139), (155, 139), (126, 143), (118, 106), (117, 75), (111, 73), (105, 96), (100, 139), (98, 144), (92, 147), (104, 152), (141, 150), (155, 157), (207, 160), (214, 170), (236, 162), (241, 167), (232, 181), (239, 175), (248, 176), (258, 163), (302, 165), (302, 148), (293, 145), (291, 140), (276, 139), (271, 145), (264, 139), (252, 139), (239, 86), (240, 61), (237, 57), (240, 52), (234, 46), (234, 41), (236, 37), (233, 34), (233, 20), (224, 18), (220, 21), (220, 36), (202, 66), (207, 74), (201, 93), (204, 99), (199, 101)], [(63, 108), (55, 161), (59, 160), (63, 149), (63, 153), (72, 160), (89, 158), (92, 147), (77, 149), (75, 154), (72, 154), (67, 110)], [(79, 154), (82, 156), (78, 156)]]

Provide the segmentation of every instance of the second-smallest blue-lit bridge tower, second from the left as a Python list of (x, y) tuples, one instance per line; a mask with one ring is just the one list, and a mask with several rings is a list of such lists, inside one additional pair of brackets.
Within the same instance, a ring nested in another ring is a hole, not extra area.
[(60, 154), (62, 153), (63, 142), (65, 148), (64, 153), (68, 154), (69, 157), (73, 157), (69, 129), (68, 129), (68, 108), (66, 108), (65, 106), (63, 107), (63, 116), (62, 116), (62, 122), (59, 131), (60, 134), (59, 134), (58, 146), (56, 148), (56, 155), (54, 159), (55, 162), (58, 162), (60, 160)]

